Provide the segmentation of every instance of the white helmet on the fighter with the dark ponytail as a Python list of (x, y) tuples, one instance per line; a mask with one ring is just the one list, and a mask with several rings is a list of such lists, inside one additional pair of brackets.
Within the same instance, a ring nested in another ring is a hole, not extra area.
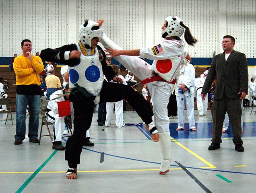
[(167, 17), (165, 21), (168, 22), (168, 26), (162, 33), (162, 37), (171, 37), (171, 36), (178, 36), (181, 37), (184, 33), (185, 28), (180, 25), (180, 22), (183, 22), (181, 18), (175, 16), (172, 18), (171, 16)]

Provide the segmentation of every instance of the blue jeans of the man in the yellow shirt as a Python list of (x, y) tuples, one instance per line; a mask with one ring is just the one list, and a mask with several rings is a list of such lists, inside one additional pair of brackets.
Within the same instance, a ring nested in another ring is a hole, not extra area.
[(24, 140), (26, 134), (26, 110), (29, 104), (29, 139), (38, 138), (40, 95), (16, 94), (16, 140)]

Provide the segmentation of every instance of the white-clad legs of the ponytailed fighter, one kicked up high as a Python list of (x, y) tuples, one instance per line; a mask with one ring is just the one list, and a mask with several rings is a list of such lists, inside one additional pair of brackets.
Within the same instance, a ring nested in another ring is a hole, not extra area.
[[(108, 41), (107, 44), (106, 42), (101, 41), (101, 43), (104, 47), (109, 47), (111, 49), (122, 49), (113, 42), (109, 43)], [(140, 80), (144, 80), (152, 76), (151, 65), (139, 57), (120, 55), (114, 58)], [(147, 87), (149, 88), (151, 99), (154, 103), (153, 113), (155, 126), (157, 127), (160, 135), (159, 142), (162, 158), (160, 170), (165, 172), (169, 167), (169, 162), (171, 161), (171, 141), (169, 131), (170, 121), (166, 111), (174, 84), (169, 84), (167, 82), (158, 82), (158, 84), (154, 84), (154, 82), (151, 82), (147, 83)]]

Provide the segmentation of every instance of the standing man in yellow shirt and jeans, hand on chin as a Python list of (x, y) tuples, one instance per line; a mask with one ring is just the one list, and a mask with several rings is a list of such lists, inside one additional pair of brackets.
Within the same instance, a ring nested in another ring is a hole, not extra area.
[(32, 55), (32, 44), (29, 39), (21, 41), (23, 54), (16, 57), (13, 69), (16, 74), (16, 135), (15, 145), (22, 144), (26, 134), (26, 109), (29, 104), (29, 142), (38, 143), (38, 126), (40, 112), (40, 80), (43, 70), (40, 57)]

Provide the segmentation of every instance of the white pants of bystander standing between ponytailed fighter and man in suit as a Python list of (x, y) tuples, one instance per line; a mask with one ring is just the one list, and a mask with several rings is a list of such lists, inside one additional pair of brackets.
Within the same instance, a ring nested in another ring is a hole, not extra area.
[(189, 129), (196, 128), (195, 117), (194, 117), (193, 94), (190, 94), (188, 96), (185, 96), (185, 94), (183, 94), (183, 97), (184, 99), (182, 100), (181, 96), (176, 95), (177, 107), (178, 107), (178, 127), (181, 129), (184, 129), (185, 103), (186, 103)]

